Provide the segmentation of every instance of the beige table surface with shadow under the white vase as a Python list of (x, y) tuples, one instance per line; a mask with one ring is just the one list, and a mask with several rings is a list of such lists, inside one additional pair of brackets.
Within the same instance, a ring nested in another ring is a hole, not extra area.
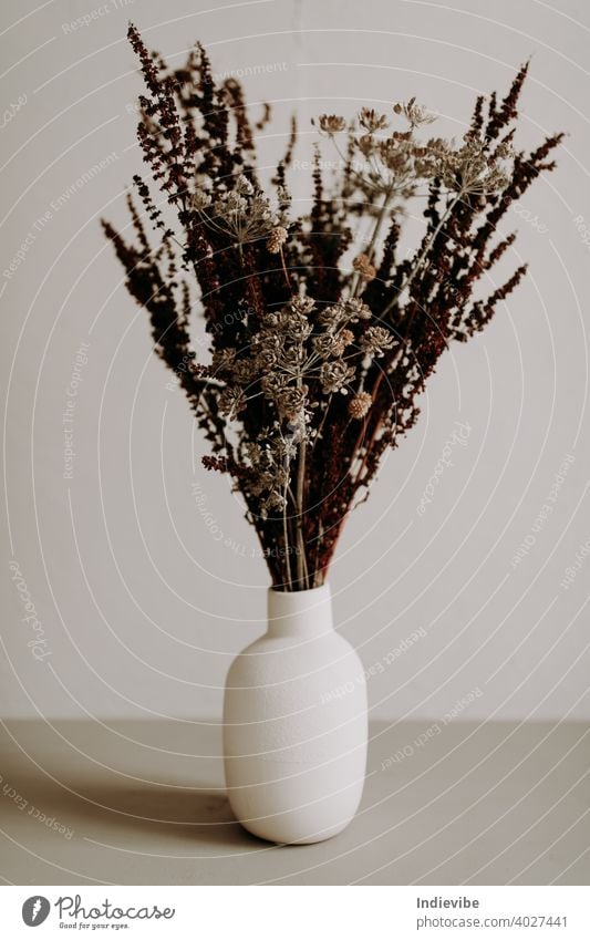
[[(590, 726), (432, 729), (373, 724), (349, 829), (277, 847), (232, 819), (218, 724), (4, 722), (0, 876), (15, 885), (589, 884)], [(401, 760), (387, 761), (396, 752)]]

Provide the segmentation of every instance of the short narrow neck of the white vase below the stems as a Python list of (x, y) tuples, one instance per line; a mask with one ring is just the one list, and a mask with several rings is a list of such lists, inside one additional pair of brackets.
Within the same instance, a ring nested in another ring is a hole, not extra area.
[(269, 637), (318, 637), (333, 629), (330, 587), (268, 592)]

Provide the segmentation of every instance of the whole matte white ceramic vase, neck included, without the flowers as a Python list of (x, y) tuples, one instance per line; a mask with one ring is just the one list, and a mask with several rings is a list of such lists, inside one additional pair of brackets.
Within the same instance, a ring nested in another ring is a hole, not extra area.
[(224, 704), (228, 797), (239, 822), (281, 844), (335, 836), (366, 767), (362, 663), (333, 629), (330, 588), (268, 593), (268, 632), (231, 664)]

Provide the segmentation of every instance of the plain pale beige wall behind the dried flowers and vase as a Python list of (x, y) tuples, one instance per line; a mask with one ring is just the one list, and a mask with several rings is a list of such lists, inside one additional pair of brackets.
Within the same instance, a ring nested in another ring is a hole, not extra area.
[[(590, 548), (590, 16), (553, 6), (2, 4), (2, 271), (15, 259), (0, 277), (3, 715), (217, 717), (230, 657), (262, 630), (253, 535), (225, 481), (200, 468), (188, 409), (99, 228), (103, 214), (125, 224), (139, 167), (133, 18), (170, 61), (199, 38), (216, 72), (245, 71), (251, 100), (275, 103), (279, 135), (294, 107), (351, 112), (412, 94), (460, 135), (474, 95), (507, 87), (532, 54), (520, 140), (569, 136), (559, 171), (508, 220), (520, 230), (513, 261), (530, 260), (530, 277), (441, 364), (418, 426), (349, 524), (332, 587), (372, 674), (374, 716), (590, 716), (590, 558), (561, 585)], [(281, 143), (261, 142), (269, 163)], [(301, 197), (307, 178), (297, 173)], [(421, 504), (443, 454), (453, 465)]]

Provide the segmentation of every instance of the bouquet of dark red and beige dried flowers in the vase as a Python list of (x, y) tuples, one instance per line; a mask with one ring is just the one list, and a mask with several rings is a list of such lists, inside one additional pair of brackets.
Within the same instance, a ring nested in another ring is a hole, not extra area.
[[(239, 83), (216, 84), (199, 44), (169, 70), (133, 25), (128, 38), (147, 90), (138, 138), (165, 198), (134, 177), (135, 240), (108, 223), (105, 233), (209, 442), (203, 463), (244, 496), (273, 586), (319, 587), (382, 455), (414, 425), (439, 355), (482, 330), (525, 275), (520, 266), (489, 296), (475, 295), (515, 240), (498, 224), (552, 169), (562, 135), (515, 149), (527, 65), (503, 101), (477, 99), (458, 143), (428, 136), (434, 117), (415, 100), (390, 115), (363, 107), (353, 122), (322, 115), (317, 130), (339, 168), (328, 184), (315, 146), (311, 208), (296, 215), (294, 121), (265, 190), (255, 137), (270, 107), (252, 123)], [(422, 231), (400, 258), (413, 203)], [(190, 328), (196, 307), (206, 362)]]

